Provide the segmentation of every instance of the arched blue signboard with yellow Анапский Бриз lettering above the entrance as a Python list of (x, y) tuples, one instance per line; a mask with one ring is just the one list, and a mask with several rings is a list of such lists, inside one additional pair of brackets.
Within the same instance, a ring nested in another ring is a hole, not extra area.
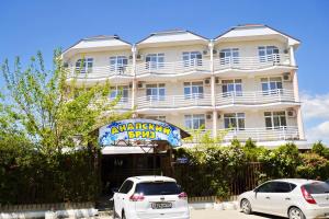
[(181, 129), (160, 120), (135, 118), (113, 122), (100, 128), (101, 146), (115, 146), (118, 141), (166, 140), (172, 147), (182, 145)]

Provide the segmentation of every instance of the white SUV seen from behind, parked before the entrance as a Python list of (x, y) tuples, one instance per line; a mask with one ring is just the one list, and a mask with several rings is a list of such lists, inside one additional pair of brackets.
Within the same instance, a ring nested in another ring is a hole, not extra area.
[(188, 195), (175, 180), (166, 176), (128, 177), (113, 200), (113, 218), (190, 218)]

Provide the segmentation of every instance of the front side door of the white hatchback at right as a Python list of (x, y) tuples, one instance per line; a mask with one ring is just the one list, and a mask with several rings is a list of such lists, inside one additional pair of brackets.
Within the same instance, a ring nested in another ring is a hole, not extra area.
[(251, 207), (256, 211), (271, 214), (271, 195), (274, 193), (273, 182), (266, 182), (254, 189)]

